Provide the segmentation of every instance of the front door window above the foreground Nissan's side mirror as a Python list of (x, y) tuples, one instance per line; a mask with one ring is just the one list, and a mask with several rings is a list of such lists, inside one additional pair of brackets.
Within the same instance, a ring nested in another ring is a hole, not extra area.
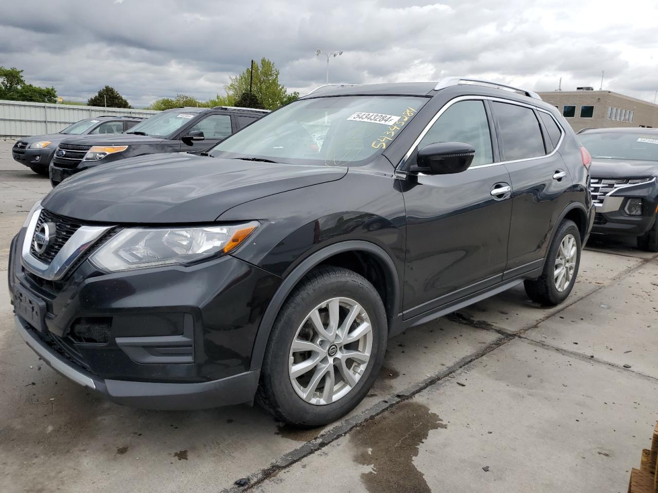
[(471, 166), (493, 162), (489, 121), (482, 101), (459, 101), (443, 112), (422, 137), (418, 149), (440, 142), (463, 142), (475, 148)]

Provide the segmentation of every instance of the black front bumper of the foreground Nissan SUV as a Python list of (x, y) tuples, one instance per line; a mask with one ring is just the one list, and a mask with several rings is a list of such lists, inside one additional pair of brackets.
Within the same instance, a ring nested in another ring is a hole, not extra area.
[[(279, 277), (224, 256), (111, 274), (84, 260), (61, 282), (45, 281), (22, 265), (25, 231), (11, 245), (9, 292), (13, 304), (22, 294), (38, 300), (43, 319), (31, 325), (16, 310), (16, 329), (53, 369), (139, 408), (253, 399), (259, 371), (250, 371), (251, 352)], [(106, 339), (81, 337), (80, 321), (96, 320), (106, 324)]]

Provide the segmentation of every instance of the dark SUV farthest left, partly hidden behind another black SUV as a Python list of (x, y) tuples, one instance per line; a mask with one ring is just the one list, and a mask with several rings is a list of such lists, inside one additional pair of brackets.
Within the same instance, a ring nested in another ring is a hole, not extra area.
[(141, 122), (138, 116), (97, 116), (69, 125), (59, 133), (23, 137), (14, 144), (11, 154), (14, 160), (28, 166), (39, 175), (48, 175), (48, 165), (53, 160), (57, 145), (71, 135), (95, 135), (97, 133), (122, 133)]

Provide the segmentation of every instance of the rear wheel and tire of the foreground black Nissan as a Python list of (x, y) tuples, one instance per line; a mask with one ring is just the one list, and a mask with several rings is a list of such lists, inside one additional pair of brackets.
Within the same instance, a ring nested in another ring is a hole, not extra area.
[(548, 249), (542, 275), (524, 281), (528, 297), (544, 306), (555, 306), (563, 302), (576, 283), (580, 253), (580, 231), (576, 223), (564, 220)]

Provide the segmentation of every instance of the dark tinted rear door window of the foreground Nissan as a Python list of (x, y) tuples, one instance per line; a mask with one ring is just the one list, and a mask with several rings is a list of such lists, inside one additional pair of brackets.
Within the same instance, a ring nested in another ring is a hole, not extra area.
[(546, 154), (542, 131), (532, 109), (497, 102), (492, 106), (499, 126), (498, 145), (503, 160), (536, 158)]

